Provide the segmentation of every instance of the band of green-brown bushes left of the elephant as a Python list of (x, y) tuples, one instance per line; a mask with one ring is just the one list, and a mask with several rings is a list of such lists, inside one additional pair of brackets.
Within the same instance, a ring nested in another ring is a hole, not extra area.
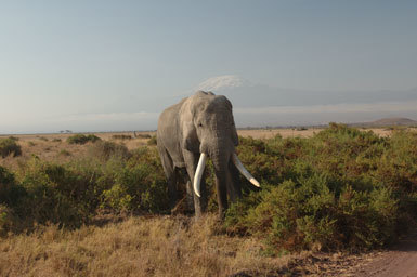
[[(126, 156), (120, 155), (125, 148), (101, 147), (90, 151), (97, 157), (64, 164), (34, 157), (15, 174), (0, 168), (0, 217), (13, 214), (18, 219), (15, 225), (24, 222), (25, 227), (78, 227), (103, 212), (166, 212), (166, 181), (156, 149), (140, 148)], [(0, 230), (11, 230), (11, 225), (8, 221)]]

